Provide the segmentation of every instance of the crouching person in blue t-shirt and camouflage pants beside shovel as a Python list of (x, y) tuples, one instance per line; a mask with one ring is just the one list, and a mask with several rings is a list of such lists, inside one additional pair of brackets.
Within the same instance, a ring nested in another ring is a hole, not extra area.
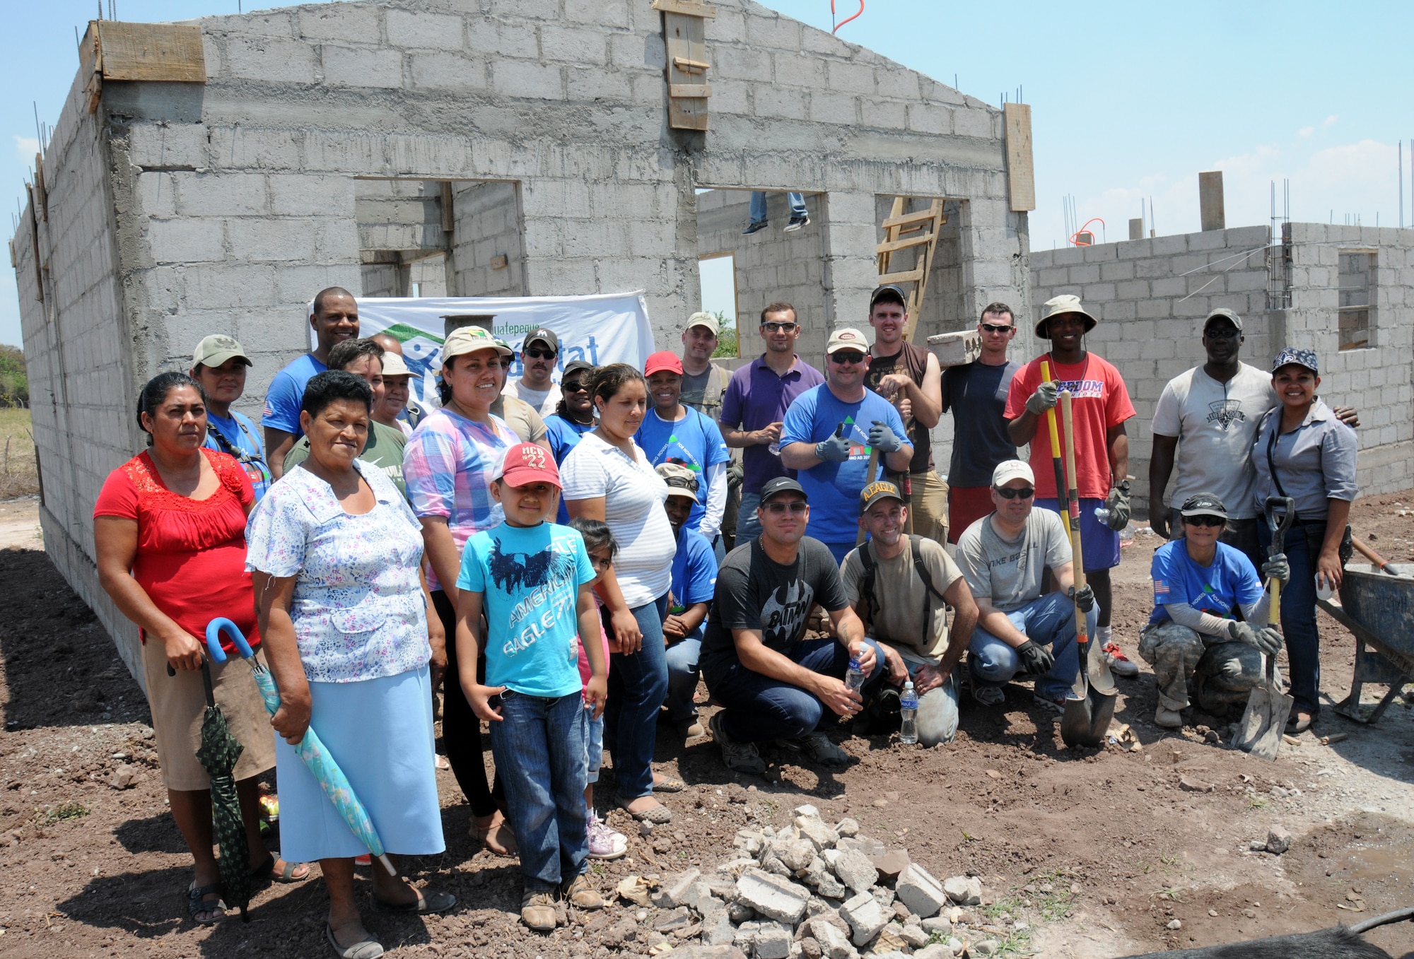
[[(1140, 634), (1140, 655), (1158, 682), (1154, 721), (1165, 728), (1184, 726), (1189, 683), (1199, 707), (1219, 717), (1247, 702), (1266, 682), (1263, 655), (1275, 656), (1282, 645), (1281, 632), (1267, 625), (1271, 597), (1251, 560), (1217, 540), (1227, 523), (1223, 501), (1193, 494), (1179, 516), (1184, 539), (1154, 553), (1154, 612)], [(1282, 583), (1291, 574), (1281, 554), (1263, 563), (1261, 573)]]

